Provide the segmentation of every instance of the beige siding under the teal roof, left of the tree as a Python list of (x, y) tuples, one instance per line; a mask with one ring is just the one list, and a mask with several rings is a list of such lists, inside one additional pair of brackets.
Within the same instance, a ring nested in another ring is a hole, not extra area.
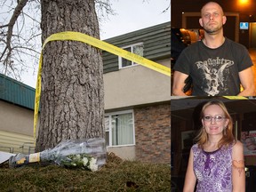
[(28, 154), (34, 152), (34, 111), (0, 100), (0, 150)]

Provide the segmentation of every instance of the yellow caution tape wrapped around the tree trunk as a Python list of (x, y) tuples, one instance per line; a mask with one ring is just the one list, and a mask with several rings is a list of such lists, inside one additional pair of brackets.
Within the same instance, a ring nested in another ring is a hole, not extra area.
[[(52, 34), (44, 41), (42, 50), (44, 49), (45, 44), (50, 41), (79, 41), (83, 42), (84, 44), (91, 44), (101, 50), (111, 52), (116, 54), (126, 60), (132, 60), (144, 67), (151, 68), (157, 72), (160, 72), (166, 76), (171, 76), (171, 68), (167, 68), (164, 65), (160, 65), (152, 60), (147, 60), (146, 58), (141, 57), (140, 55), (134, 54), (132, 52), (127, 52), (124, 49), (116, 47), (112, 44), (108, 44), (104, 41), (100, 41), (97, 38), (92, 36), (87, 36), (85, 34), (74, 32), (74, 31), (65, 31), (60, 32), (57, 34)], [(41, 52), (40, 60), (39, 60), (39, 68), (38, 68), (38, 75), (36, 81), (36, 98), (35, 98), (35, 113), (34, 113), (34, 140), (36, 142), (36, 124), (37, 124), (37, 115), (39, 110), (39, 101), (40, 101), (40, 94), (41, 94), (41, 70), (42, 70), (42, 62), (43, 62), (43, 53)]]

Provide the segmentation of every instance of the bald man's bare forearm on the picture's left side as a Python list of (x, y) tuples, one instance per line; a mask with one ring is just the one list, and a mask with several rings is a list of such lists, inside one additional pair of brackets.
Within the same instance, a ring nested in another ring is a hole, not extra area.
[(186, 94), (183, 92), (183, 88), (185, 86), (185, 80), (187, 77), (187, 74), (183, 74), (180, 71), (174, 72), (172, 84), (173, 96), (186, 96)]

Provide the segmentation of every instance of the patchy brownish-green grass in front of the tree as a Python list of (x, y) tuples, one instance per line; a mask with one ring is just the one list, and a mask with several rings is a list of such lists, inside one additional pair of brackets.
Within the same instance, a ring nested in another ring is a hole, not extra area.
[(0, 167), (1, 191), (171, 191), (171, 166), (122, 161), (108, 154), (98, 172), (70, 170), (57, 165)]

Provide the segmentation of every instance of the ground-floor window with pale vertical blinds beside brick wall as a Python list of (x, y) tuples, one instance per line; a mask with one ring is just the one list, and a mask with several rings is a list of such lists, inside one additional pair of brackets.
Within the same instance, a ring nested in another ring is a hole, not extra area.
[(107, 146), (134, 145), (132, 110), (105, 115)]

